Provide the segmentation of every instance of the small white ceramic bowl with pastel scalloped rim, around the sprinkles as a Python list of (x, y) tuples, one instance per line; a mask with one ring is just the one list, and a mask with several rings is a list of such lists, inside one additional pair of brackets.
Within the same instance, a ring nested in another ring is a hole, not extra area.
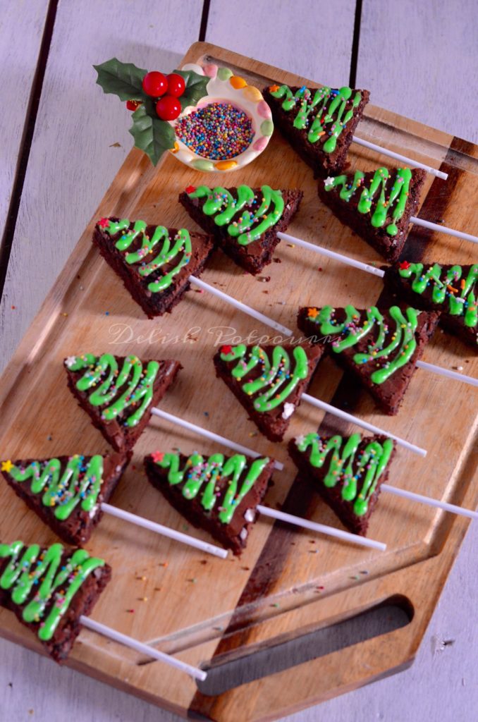
[(194, 70), (199, 75), (206, 75), (210, 78), (207, 83), (207, 95), (205, 95), (197, 105), (188, 105), (183, 110), (181, 116), (171, 125), (175, 128), (176, 123), (193, 113), (198, 108), (204, 108), (211, 103), (230, 103), (235, 108), (243, 110), (243, 112), (251, 118), (253, 139), (251, 144), (239, 155), (228, 160), (211, 160), (207, 157), (198, 155), (191, 148), (188, 148), (181, 139), (176, 136), (175, 147), (170, 150), (178, 160), (184, 165), (195, 170), (206, 172), (230, 173), (231, 170), (243, 168), (254, 160), (266, 147), (271, 138), (274, 125), (272, 123), (271, 109), (262, 97), (261, 91), (253, 85), (248, 85), (245, 79), (234, 75), (229, 68), (219, 68), (217, 65), (205, 65), (201, 67), (196, 64), (189, 63), (183, 66), (183, 70)]

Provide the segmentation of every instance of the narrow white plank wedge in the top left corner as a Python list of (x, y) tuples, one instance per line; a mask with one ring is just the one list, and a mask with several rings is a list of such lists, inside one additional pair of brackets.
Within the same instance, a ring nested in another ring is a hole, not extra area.
[[(28, 8), (27, 8), (28, 5)], [(8, 213), (48, 0), (4, 1), (0, 12), (0, 235)], [(25, 43), (27, 39), (27, 43)]]

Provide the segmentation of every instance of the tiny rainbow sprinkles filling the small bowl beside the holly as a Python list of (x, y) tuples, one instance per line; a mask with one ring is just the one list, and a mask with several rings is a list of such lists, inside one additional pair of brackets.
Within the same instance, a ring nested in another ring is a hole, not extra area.
[(251, 145), (252, 121), (230, 103), (211, 103), (184, 116), (175, 126), (176, 136), (197, 155), (229, 160)]

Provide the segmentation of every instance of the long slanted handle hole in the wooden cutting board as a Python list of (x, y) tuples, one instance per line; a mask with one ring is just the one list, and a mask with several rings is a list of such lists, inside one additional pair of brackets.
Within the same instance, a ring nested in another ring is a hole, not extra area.
[(198, 682), (203, 695), (222, 695), (240, 684), (268, 677), (285, 669), (317, 659), (360, 642), (406, 627), (414, 609), (406, 596), (396, 594), (366, 612), (344, 619), (329, 627), (321, 627), (300, 637), (256, 649), (247, 656), (225, 659), (221, 656), (207, 669), (207, 679)]

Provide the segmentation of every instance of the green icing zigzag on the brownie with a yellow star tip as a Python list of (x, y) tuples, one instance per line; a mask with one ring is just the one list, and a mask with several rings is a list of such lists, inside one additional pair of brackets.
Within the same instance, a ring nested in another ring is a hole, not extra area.
[(71, 456), (63, 471), (58, 458), (51, 458), (43, 465), (32, 461), (26, 467), (12, 466), (9, 474), (19, 483), (32, 479), (33, 494), (43, 492), (43, 505), (55, 507), (54, 515), (64, 521), (78, 504), (87, 512), (95, 508), (103, 482), (103, 456), (92, 456), (87, 464), (84, 456)]

